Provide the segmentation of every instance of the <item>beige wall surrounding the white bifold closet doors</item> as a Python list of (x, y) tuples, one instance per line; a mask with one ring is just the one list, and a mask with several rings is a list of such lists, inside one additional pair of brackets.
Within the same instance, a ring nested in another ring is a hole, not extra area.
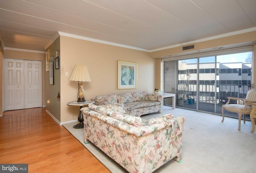
[(24, 52), (24, 51), (4, 50), (4, 58), (42, 61), (42, 105), (46, 106), (46, 87), (45, 87), (46, 56), (45, 56), (45, 53), (32, 53), (32, 52)]

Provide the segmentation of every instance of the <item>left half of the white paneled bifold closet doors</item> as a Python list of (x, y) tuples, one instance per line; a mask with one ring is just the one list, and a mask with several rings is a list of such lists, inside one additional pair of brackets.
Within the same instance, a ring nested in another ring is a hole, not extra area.
[(4, 59), (4, 110), (24, 109), (24, 60)]

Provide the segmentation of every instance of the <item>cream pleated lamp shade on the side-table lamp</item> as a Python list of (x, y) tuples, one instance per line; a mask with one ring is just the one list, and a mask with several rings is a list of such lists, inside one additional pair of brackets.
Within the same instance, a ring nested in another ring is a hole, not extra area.
[(90, 74), (86, 65), (76, 64), (70, 77), (70, 81), (90, 82)]

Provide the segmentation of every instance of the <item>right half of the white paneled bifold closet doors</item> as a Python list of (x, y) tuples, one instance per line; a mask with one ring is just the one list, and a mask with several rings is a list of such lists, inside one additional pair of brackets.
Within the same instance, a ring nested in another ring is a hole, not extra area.
[(24, 61), (24, 108), (42, 107), (42, 61)]

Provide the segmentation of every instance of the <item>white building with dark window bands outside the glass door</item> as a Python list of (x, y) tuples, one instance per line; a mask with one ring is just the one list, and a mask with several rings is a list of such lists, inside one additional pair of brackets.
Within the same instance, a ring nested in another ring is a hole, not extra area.
[(216, 100), (217, 104), (225, 104), (228, 96), (244, 98), (250, 89), (251, 69), (251, 62), (199, 63), (197, 68), (197, 63), (179, 61), (178, 98), (206, 103)]

